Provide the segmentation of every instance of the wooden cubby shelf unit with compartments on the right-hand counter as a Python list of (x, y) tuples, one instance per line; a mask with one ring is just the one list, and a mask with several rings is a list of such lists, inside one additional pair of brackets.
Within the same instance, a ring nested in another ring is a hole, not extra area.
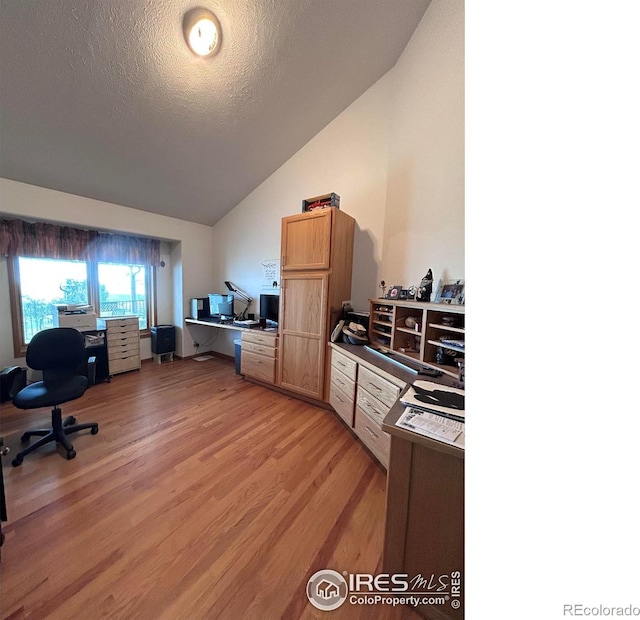
[(369, 340), (390, 352), (454, 378), (464, 366), (465, 308), (408, 300), (371, 299)]

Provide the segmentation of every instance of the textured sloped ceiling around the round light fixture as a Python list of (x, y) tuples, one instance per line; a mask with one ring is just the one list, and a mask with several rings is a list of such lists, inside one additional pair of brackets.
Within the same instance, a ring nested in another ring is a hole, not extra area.
[[(429, 1), (0, 0), (0, 176), (212, 225), (393, 67)], [(194, 6), (212, 58), (184, 42)]]

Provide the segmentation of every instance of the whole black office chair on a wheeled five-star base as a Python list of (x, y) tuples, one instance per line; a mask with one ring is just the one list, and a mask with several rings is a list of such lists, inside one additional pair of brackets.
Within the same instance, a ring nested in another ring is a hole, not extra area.
[[(70, 416), (62, 421), (59, 405), (82, 396), (89, 380), (80, 374), (87, 364), (84, 336), (71, 327), (54, 327), (38, 332), (27, 347), (27, 366), (42, 371), (42, 381), (27, 385), (13, 397), (13, 404), (19, 409), (53, 407), (50, 429), (36, 429), (22, 435), (23, 443), (31, 437), (41, 437), (34, 444), (19, 452), (11, 464), (16, 467), (24, 457), (40, 446), (55, 441), (67, 451), (67, 459), (76, 455), (67, 435), (90, 428), (91, 434), (98, 432), (95, 422), (76, 424)], [(89, 373), (87, 373), (89, 374)]]

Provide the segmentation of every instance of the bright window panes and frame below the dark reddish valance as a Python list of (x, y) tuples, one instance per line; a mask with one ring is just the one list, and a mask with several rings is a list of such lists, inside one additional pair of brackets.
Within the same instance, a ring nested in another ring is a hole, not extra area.
[[(34, 334), (53, 327), (53, 304), (92, 304), (98, 316), (135, 315), (142, 333), (153, 323), (153, 267), (16, 257), (10, 288), (16, 356)], [(15, 329), (18, 326), (18, 329)]]

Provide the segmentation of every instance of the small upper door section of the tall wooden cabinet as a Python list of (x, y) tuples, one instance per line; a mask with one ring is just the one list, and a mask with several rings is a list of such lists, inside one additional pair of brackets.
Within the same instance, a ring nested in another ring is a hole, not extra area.
[(332, 236), (348, 215), (334, 207), (285, 217), (282, 220), (282, 271), (329, 269)]

